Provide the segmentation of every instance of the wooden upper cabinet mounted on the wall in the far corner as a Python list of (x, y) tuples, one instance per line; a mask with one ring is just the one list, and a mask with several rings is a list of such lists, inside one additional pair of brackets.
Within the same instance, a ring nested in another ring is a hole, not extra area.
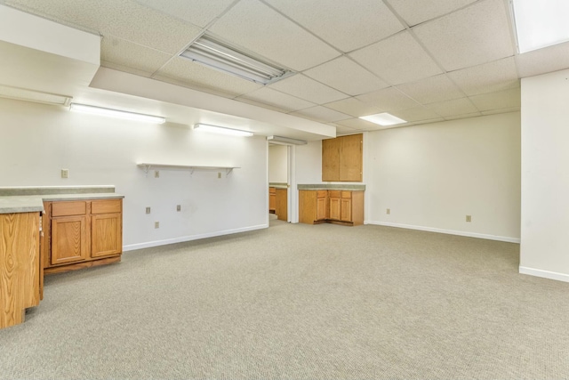
[(362, 133), (322, 141), (322, 181), (362, 182)]

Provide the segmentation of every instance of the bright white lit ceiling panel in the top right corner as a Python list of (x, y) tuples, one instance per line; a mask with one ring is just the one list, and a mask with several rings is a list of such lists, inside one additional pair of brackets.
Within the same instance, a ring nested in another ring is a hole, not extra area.
[(567, 0), (510, 0), (519, 53), (569, 41)]

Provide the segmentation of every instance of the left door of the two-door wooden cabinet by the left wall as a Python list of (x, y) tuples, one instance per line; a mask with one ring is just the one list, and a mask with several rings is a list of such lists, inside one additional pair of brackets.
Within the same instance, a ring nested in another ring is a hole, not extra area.
[(83, 261), (88, 249), (85, 216), (52, 218), (52, 265)]

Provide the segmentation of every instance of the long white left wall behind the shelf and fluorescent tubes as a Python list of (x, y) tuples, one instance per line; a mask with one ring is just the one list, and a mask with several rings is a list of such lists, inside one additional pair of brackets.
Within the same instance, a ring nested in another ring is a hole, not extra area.
[[(262, 136), (198, 133), (185, 125), (140, 124), (4, 99), (0, 136), (0, 186), (115, 185), (125, 196), (125, 249), (268, 226)], [(164, 169), (154, 178), (139, 162), (240, 168), (220, 179), (212, 172)], [(67, 180), (60, 178), (61, 168), (69, 170)]]

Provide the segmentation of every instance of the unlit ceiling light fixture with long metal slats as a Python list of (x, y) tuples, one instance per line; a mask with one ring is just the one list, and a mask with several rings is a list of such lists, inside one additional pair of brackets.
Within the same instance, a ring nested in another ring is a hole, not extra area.
[(254, 58), (252, 54), (240, 52), (230, 44), (208, 35), (201, 36), (190, 44), (180, 57), (261, 85), (268, 85), (294, 74), (293, 71)]

